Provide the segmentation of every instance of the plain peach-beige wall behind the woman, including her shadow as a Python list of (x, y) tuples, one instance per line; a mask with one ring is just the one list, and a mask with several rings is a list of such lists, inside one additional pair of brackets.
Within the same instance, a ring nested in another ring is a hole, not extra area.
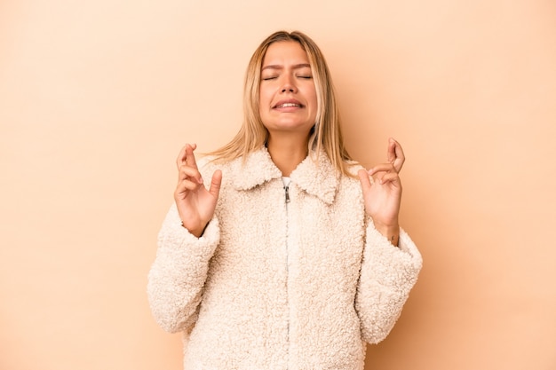
[(366, 368), (556, 368), (553, 1), (4, 0), (0, 369), (181, 368), (146, 297), (173, 161), (231, 138), (280, 28), (322, 47), (352, 154), (408, 157), (425, 268)]

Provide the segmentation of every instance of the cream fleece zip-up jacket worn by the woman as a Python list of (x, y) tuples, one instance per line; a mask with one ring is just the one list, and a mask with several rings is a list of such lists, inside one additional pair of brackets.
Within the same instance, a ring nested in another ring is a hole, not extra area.
[(203, 236), (172, 206), (148, 275), (156, 321), (186, 332), (185, 369), (362, 369), (365, 342), (388, 335), (417, 281), (408, 234), (396, 248), (377, 232), (359, 180), (338, 177), (325, 154), (291, 173), (288, 203), (265, 148), (244, 165), (203, 165), (207, 183), (217, 168)]

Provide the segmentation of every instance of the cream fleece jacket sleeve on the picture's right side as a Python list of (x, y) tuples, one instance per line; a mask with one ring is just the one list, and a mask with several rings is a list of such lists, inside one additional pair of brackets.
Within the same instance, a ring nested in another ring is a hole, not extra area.
[(396, 248), (369, 220), (355, 298), (365, 342), (381, 342), (390, 333), (422, 264), (420, 253), (406, 232), (400, 229)]

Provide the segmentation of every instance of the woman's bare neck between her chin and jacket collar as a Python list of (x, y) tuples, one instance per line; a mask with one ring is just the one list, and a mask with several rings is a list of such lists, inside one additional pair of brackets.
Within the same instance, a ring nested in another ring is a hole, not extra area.
[(268, 138), (266, 147), (272, 161), (282, 171), (282, 176), (290, 176), (307, 156), (307, 138), (298, 136), (273, 135)]

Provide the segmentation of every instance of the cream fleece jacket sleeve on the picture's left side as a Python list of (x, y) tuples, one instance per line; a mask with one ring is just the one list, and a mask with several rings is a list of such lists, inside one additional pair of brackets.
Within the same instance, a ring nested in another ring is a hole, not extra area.
[(176, 333), (195, 323), (218, 240), (216, 216), (196, 238), (181, 225), (178, 209), (172, 205), (158, 234), (156, 258), (147, 282), (151, 311), (164, 330)]

